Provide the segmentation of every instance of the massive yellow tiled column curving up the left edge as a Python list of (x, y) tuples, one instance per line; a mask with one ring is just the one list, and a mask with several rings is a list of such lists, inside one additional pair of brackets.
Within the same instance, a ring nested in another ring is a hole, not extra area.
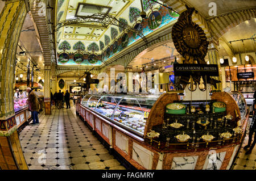
[(20, 31), (26, 16), (24, 1), (6, 1), (0, 15), (0, 169), (27, 170), (14, 112), (14, 71)]

